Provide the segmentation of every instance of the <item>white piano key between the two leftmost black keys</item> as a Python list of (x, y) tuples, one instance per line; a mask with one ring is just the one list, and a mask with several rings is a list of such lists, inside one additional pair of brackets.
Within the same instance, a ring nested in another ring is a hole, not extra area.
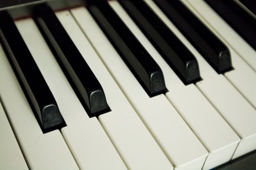
[(16, 25), (58, 103), (67, 124), (61, 133), (80, 170), (126, 170), (97, 118), (88, 117), (34, 21)]

